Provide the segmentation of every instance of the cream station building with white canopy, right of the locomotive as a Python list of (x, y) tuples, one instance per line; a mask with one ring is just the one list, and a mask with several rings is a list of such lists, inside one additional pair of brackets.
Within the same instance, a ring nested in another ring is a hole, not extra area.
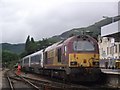
[(100, 67), (120, 68), (120, 20), (103, 26), (98, 39)]

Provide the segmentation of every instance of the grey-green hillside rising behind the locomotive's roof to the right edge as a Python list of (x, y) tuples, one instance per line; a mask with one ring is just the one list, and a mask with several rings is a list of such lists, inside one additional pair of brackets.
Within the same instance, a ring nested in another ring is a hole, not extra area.
[(114, 22), (120, 20), (120, 15), (111, 17), (111, 18), (105, 18), (103, 20), (100, 20), (98, 22), (95, 22), (94, 24), (88, 26), (88, 27), (82, 27), (82, 28), (74, 28), (72, 30), (68, 30), (67, 32), (62, 33), (61, 35), (53, 36), (50, 39), (54, 40), (61, 40), (66, 39), (69, 36), (73, 35), (81, 35), (81, 34), (88, 34), (94, 38), (97, 38), (98, 35), (101, 35), (101, 27), (114, 23), (112, 22), (112, 18), (114, 18)]

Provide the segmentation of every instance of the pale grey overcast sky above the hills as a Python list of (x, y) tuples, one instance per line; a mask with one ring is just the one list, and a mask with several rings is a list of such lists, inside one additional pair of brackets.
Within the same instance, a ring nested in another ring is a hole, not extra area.
[(0, 0), (0, 43), (36, 41), (118, 15), (119, 0)]

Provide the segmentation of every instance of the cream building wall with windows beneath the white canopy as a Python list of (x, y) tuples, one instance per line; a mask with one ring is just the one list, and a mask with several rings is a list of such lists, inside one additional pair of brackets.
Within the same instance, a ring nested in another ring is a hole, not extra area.
[(113, 37), (99, 39), (100, 59), (120, 59), (120, 42), (114, 42)]

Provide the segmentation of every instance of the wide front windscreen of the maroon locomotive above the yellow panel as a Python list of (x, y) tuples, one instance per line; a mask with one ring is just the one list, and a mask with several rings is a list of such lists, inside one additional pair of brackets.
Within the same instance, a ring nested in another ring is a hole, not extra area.
[(94, 51), (94, 45), (88, 41), (74, 41), (73, 42), (74, 51)]

